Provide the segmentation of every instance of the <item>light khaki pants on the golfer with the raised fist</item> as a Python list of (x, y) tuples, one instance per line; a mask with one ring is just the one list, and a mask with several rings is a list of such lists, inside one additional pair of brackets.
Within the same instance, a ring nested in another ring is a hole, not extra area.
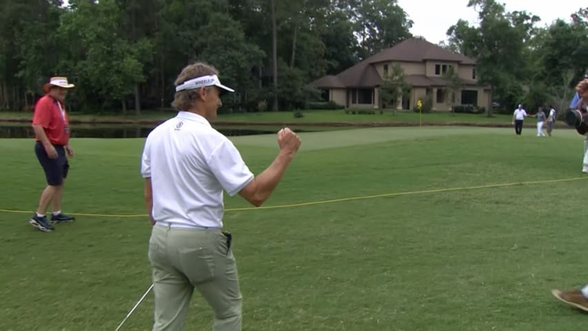
[(232, 250), (220, 229), (156, 224), (149, 241), (155, 294), (153, 331), (183, 330), (194, 288), (214, 312), (213, 331), (241, 331), (241, 291)]

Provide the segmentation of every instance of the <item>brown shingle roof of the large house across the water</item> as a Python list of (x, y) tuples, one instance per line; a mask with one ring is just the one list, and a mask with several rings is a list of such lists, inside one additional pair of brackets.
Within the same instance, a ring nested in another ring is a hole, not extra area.
[[(463, 64), (475, 64), (473, 59), (465, 57), (462, 54), (449, 52), (440, 48), (434, 43), (422, 39), (407, 39), (392, 48), (381, 50), (371, 57), (364, 59), (351, 68), (343, 70), (339, 74), (327, 75), (316, 79), (311, 83), (317, 88), (363, 88), (381, 85), (382, 79), (378, 74), (374, 64), (385, 61), (406, 61), (406, 62), (423, 62), (427, 60), (453, 61)], [(420, 76), (420, 77), (416, 77)], [(436, 77), (426, 77), (424, 75), (415, 75), (412, 81), (407, 80), (413, 86), (435, 86), (447, 85), (447, 82), (438, 81)], [(474, 81), (463, 80), (464, 85), (475, 85)]]

